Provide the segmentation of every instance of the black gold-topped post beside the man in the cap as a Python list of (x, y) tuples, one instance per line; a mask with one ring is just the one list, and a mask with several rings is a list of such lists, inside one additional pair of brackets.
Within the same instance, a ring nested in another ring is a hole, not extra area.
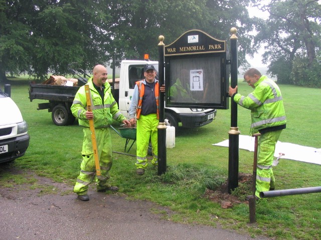
[[(158, 36), (158, 83), (159, 87), (164, 84), (164, 36)], [(166, 159), (166, 123), (165, 123), (165, 93), (159, 90), (159, 122), (157, 126), (158, 136), (158, 158), (157, 158), (157, 173), (161, 175), (166, 172), (167, 159)]]

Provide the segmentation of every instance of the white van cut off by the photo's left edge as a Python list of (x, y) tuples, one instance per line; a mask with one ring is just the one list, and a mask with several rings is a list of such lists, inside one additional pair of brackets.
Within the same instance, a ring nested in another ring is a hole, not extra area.
[(17, 104), (11, 99), (11, 88), (0, 88), (0, 163), (23, 156), (29, 146), (28, 124)]

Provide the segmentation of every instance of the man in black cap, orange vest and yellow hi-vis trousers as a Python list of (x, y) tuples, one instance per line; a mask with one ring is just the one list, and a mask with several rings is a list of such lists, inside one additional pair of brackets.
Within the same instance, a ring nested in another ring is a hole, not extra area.
[[(130, 124), (137, 123), (136, 133), (136, 173), (142, 175), (147, 167), (147, 149), (151, 140), (151, 163), (157, 165), (157, 125), (159, 119), (159, 85), (155, 79), (156, 69), (152, 64), (144, 66), (145, 79), (136, 81), (134, 93), (129, 106)], [(165, 86), (161, 88), (165, 92)], [(137, 121), (135, 119), (135, 114)]]

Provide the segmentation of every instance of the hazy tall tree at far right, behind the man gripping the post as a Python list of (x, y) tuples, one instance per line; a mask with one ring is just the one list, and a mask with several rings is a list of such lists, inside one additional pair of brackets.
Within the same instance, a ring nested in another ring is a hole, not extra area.
[(297, 76), (293, 63), (306, 59), (304, 66), (312, 71), (320, 64), (316, 54), (321, 47), (320, 4), (317, 0), (271, 0), (257, 5), (270, 14), (267, 20), (257, 19), (254, 41), (255, 46), (267, 43), (263, 60), (270, 62), (269, 72), (282, 83), (302, 83), (293, 79)]

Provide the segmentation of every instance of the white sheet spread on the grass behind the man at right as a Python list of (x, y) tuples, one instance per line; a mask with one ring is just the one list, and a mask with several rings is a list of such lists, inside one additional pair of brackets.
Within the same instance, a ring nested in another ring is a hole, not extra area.
[[(255, 137), (252, 136), (239, 135), (239, 148), (254, 151), (254, 139)], [(229, 146), (229, 140), (227, 139), (212, 145)], [(278, 157), (280, 152), (285, 154), (281, 158), (321, 164), (321, 148), (277, 141), (274, 156)]]

